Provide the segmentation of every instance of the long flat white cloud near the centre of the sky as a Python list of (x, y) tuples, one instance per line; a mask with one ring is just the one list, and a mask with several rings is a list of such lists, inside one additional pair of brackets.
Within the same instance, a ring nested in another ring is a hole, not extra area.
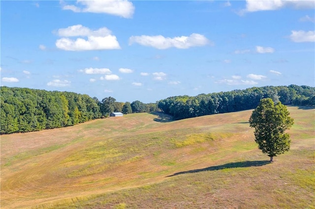
[(198, 33), (192, 33), (190, 36), (180, 37), (164, 37), (162, 35), (157, 36), (131, 36), (129, 38), (129, 45), (133, 43), (140, 44), (146, 47), (154, 47), (159, 50), (175, 47), (177, 49), (188, 49), (190, 47), (201, 47), (211, 43), (205, 36)]

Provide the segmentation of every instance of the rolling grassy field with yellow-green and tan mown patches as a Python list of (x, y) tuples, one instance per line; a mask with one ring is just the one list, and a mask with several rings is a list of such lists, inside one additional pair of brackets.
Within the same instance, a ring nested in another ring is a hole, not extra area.
[(288, 109), (291, 150), (275, 163), (257, 149), (252, 110), (1, 135), (1, 209), (315, 208), (315, 109)]

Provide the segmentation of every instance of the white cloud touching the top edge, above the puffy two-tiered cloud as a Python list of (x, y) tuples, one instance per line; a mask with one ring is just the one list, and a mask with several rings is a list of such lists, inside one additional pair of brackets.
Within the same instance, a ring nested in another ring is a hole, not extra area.
[(75, 5), (64, 5), (63, 10), (71, 10), (73, 12), (92, 12), (92, 13), (107, 13), (110, 15), (131, 18), (134, 13), (134, 6), (128, 0), (77, 0)]

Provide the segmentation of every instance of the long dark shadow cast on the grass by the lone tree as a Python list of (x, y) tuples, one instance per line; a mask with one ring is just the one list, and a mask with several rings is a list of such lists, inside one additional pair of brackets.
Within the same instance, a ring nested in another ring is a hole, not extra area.
[(166, 177), (172, 177), (182, 174), (189, 174), (189, 173), (198, 173), (202, 171), (217, 171), (222, 170), (226, 168), (245, 168), (245, 167), (256, 167), (256, 166), (262, 166), (271, 163), (269, 160), (256, 160), (256, 161), (242, 161), (242, 162), (230, 162), (223, 165), (216, 165), (216, 166), (210, 166), (207, 168), (201, 168), (201, 169), (195, 169), (190, 171), (182, 171), (178, 173), (174, 173), (173, 175), (166, 176)]

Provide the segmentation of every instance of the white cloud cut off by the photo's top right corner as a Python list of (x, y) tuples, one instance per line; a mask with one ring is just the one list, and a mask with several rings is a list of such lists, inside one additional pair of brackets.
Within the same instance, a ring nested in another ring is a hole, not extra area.
[(278, 10), (284, 7), (296, 9), (313, 9), (314, 1), (305, 0), (246, 0), (246, 9), (242, 12), (256, 12), (264, 10)]

